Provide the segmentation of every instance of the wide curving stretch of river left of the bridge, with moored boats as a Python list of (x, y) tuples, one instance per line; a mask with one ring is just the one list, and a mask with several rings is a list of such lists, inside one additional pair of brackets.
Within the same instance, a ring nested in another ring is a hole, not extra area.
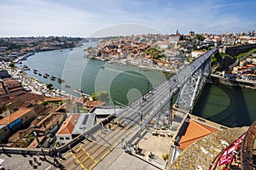
[[(55, 88), (68, 94), (79, 96), (73, 92), (76, 88), (85, 94), (107, 91), (110, 96), (109, 105), (113, 105), (113, 101), (127, 105), (166, 78), (160, 71), (142, 71), (134, 65), (110, 64), (98, 59), (84, 58), (84, 49), (95, 45), (96, 42), (88, 42), (73, 50), (40, 52), (22, 61), (22, 65), (31, 69), (26, 71), (27, 76), (35, 77), (46, 84), (52, 83)], [(104, 68), (100, 68), (100, 65)], [(34, 69), (42, 76), (34, 74)], [(45, 73), (49, 77), (56, 77), (56, 80), (44, 78)], [(59, 77), (65, 82), (57, 82)]]

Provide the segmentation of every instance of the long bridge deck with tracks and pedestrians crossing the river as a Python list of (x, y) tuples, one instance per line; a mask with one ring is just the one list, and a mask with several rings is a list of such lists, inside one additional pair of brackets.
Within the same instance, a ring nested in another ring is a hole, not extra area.
[[(182, 88), (186, 80), (217, 50), (212, 49), (207, 54), (186, 65), (169, 80), (161, 82), (151, 93), (131, 103), (119, 112), (116, 119), (102, 125), (92, 132), (87, 140), (70, 151), (61, 165), (65, 169), (91, 169), (108, 155), (118, 144), (131, 139), (134, 132), (145, 126), (162, 109), (172, 96)], [(170, 90), (171, 89), (171, 90)], [(110, 126), (110, 129), (108, 127)], [(127, 138), (128, 137), (128, 138)], [(54, 169), (54, 167), (49, 167)]]

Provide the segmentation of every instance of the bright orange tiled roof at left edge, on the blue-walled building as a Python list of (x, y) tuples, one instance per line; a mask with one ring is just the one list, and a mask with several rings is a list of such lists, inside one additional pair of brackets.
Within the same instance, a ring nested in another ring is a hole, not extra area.
[(10, 114), (9, 116), (5, 116), (3, 117), (3, 119), (0, 119), (0, 125), (8, 125), (9, 123), (14, 122), (18, 118), (20, 118), (20, 116), (24, 116), (26, 115), (26, 113), (32, 110), (34, 110), (34, 108), (32, 107), (30, 108), (22, 107), (20, 108), (19, 111), (15, 111), (13, 114)]

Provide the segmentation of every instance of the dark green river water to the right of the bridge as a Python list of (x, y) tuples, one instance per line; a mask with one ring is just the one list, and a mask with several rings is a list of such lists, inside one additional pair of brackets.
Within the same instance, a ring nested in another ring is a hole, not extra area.
[(248, 126), (256, 120), (256, 90), (206, 84), (193, 113), (228, 127)]

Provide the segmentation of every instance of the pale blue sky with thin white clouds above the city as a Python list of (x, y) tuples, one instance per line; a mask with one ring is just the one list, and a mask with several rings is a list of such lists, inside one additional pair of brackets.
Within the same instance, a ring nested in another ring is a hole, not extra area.
[(256, 31), (255, 0), (1, 0), (0, 37)]

